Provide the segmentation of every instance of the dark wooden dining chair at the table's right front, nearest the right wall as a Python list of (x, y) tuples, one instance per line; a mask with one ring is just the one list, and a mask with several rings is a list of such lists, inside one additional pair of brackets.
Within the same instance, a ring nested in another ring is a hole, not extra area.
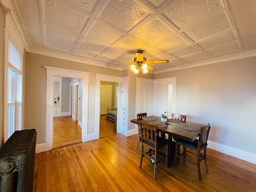
[[(182, 158), (182, 159), (196, 165), (197, 166), (197, 172), (198, 172), (198, 178), (199, 178), (200, 181), (202, 180), (201, 171), (200, 171), (200, 162), (202, 160), (204, 160), (206, 172), (208, 173), (208, 166), (207, 166), (207, 160), (206, 160), (206, 146), (207, 146), (208, 135), (209, 135), (209, 132), (210, 132), (210, 126), (209, 125), (210, 124), (200, 128), (199, 139), (196, 139), (192, 142), (184, 140), (184, 139), (176, 140), (175, 166), (176, 166), (176, 163), (177, 163), (177, 157)], [(182, 154), (179, 154), (180, 152), (178, 153), (178, 151), (179, 151), (178, 148), (180, 148), (180, 146), (183, 146), (183, 153)], [(196, 153), (191, 152), (191, 151), (187, 151), (186, 148), (189, 148), (190, 150), (195, 151)], [(204, 150), (204, 154), (201, 153), (202, 150)], [(189, 153), (196, 156), (196, 163), (194, 161), (188, 160), (186, 158), (186, 152), (189, 152)]]

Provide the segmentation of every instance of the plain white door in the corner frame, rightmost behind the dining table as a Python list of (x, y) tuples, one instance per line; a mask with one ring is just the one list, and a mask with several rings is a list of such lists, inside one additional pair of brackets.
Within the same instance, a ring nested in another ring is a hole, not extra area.
[(165, 114), (168, 112), (168, 84), (156, 85), (156, 116)]

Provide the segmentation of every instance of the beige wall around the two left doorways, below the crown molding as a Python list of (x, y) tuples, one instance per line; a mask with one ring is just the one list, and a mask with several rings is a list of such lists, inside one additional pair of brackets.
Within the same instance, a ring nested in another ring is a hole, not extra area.
[[(37, 144), (44, 143), (46, 137), (46, 69), (44, 66), (90, 72), (89, 95), (95, 95), (94, 82), (96, 82), (96, 78), (94, 73), (119, 77), (122, 76), (122, 71), (119, 70), (112, 70), (26, 52), (25, 128), (36, 128)], [(92, 100), (93, 98), (91, 98), (89, 102), (89, 108), (93, 108), (93, 106), (91, 106), (93, 103)], [(91, 110), (89, 111), (91, 112)]]

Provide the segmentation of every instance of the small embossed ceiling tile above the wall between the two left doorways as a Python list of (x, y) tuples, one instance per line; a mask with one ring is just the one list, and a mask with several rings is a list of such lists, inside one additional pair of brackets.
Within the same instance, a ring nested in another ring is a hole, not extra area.
[(106, 48), (108, 48), (108, 46), (94, 44), (94, 42), (89, 42), (88, 40), (84, 39), (75, 52), (82, 53), (84, 50), (87, 50), (89, 52), (96, 52), (99, 54)]

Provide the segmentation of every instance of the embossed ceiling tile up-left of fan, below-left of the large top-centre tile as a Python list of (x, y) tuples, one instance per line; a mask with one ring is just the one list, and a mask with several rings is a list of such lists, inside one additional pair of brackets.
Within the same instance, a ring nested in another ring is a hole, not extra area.
[(93, 44), (101, 44), (111, 46), (116, 40), (122, 37), (123, 34), (118, 30), (96, 21), (84, 39)]

